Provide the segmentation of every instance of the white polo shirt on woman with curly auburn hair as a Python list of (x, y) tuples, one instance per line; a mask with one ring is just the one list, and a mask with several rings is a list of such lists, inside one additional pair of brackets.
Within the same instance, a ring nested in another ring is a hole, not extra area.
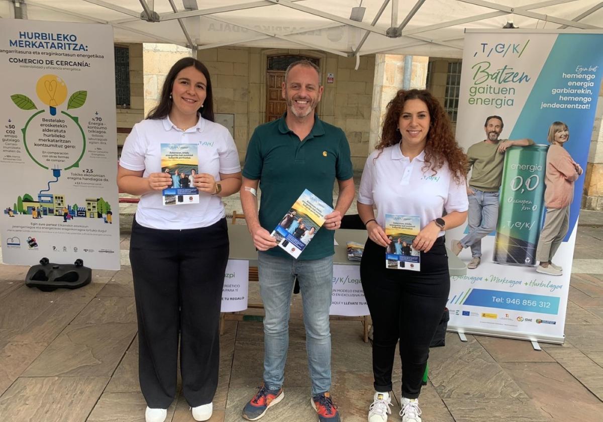
[(373, 151), (364, 165), (358, 202), (376, 205), (375, 219), (381, 227), (385, 227), (385, 214), (418, 215), (423, 228), (441, 217), (444, 209), (447, 213), (467, 211), (465, 180), (456, 183), (447, 162), (433, 175), (431, 169), (423, 170), (425, 151), (412, 162), (402, 155), (399, 144), (379, 152)]

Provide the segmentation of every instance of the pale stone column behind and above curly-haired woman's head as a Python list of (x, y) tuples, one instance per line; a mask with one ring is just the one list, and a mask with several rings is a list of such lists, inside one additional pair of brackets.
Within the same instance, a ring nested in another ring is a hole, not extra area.
[[(371, 130), (368, 154), (379, 143), (381, 123), (387, 111), (387, 104), (404, 83), (404, 55), (377, 54), (373, 83), (373, 104), (371, 108)], [(429, 57), (412, 56), (412, 72), (409, 88), (425, 89)]]

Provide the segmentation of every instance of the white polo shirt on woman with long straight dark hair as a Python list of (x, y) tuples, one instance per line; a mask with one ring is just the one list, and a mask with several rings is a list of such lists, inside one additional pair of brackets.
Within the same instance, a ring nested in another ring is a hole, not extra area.
[[(137, 123), (125, 140), (119, 165), (125, 169), (144, 170), (142, 177), (161, 172), (162, 143), (197, 143), (198, 172), (211, 174), (220, 180), (219, 173), (241, 171), (235, 141), (223, 125), (203, 119), (194, 127), (180, 130), (165, 119), (146, 119)], [(136, 222), (144, 227), (163, 230), (183, 230), (207, 227), (224, 218), (224, 204), (217, 195), (199, 192), (198, 204), (164, 206), (161, 191), (140, 197)]]

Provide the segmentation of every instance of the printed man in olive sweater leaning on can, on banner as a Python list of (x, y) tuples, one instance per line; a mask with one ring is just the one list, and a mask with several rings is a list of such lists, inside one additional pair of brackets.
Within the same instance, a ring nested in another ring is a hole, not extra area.
[(481, 263), (482, 238), (496, 228), (498, 219), (499, 189), (505, 163), (505, 151), (510, 146), (533, 145), (534, 141), (524, 139), (499, 139), (504, 124), (500, 116), (488, 116), (484, 124), (486, 139), (474, 143), (467, 150), (471, 178), (467, 186), (469, 197), (469, 233), (461, 239), (453, 240), (450, 250), (456, 255), (464, 248), (471, 248), (471, 261), (467, 268), (475, 269)]

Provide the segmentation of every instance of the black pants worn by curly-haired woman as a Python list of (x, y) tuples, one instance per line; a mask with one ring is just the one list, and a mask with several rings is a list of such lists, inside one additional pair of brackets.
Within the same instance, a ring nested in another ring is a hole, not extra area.
[(400, 339), (402, 397), (417, 398), (429, 357), (429, 343), (450, 291), (444, 239), (421, 252), (421, 271), (385, 268), (385, 248), (370, 239), (360, 263), (362, 288), (373, 319), (373, 375), (376, 391), (391, 391)]

